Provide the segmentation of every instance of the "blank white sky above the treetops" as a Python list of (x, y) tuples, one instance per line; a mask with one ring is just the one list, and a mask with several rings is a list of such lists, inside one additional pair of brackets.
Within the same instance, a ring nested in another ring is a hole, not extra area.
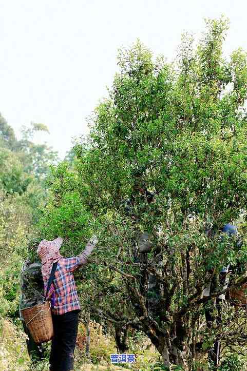
[(0, 112), (16, 131), (46, 124), (50, 135), (35, 140), (63, 157), (106, 96), (119, 47), (139, 37), (170, 60), (184, 30), (223, 13), (225, 51), (247, 50), (246, 10), (244, 0), (0, 0)]

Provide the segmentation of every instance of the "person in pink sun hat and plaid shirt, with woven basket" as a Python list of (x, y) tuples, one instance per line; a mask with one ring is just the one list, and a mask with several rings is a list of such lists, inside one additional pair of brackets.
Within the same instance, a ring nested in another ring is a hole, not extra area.
[(22, 315), (36, 343), (52, 340), (50, 371), (73, 369), (81, 311), (73, 271), (87, 263), (97, 242), (97, 238), (92, 237), (85, 249), (71, 258), (60, 254), (62, 238), (43, 240), (37, 248), (46, 294), (42, 304), (23, 309)]

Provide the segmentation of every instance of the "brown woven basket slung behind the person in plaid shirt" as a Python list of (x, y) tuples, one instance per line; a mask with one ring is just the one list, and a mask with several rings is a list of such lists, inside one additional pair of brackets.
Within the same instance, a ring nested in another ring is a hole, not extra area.
[(35, 343), (46, 343), (52, 339), (54, 331), (50, 302), (22, 309), (21, 313)]

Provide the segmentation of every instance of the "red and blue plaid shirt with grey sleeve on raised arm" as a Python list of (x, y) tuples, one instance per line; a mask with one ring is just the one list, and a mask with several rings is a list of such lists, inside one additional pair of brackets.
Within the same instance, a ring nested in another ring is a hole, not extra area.
[[(80, 255), (73, 258), (63, 258), (58, 262), (53, 284), (47, 295), (47, 299), (53, 299), (52, 313), (54, 315), (63, 315), (68, 311), (81, 309), (73, 271), (87, 263), (87, 258), (93, 247), (88, 242)], [(45, 283), (45, 292), (47, 283)]]

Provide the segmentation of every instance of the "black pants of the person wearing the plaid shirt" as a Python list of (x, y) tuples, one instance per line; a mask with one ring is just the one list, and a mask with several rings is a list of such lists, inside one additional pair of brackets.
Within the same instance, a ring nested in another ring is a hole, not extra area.
[(51, 343), (50, 371), (70, 371), (74, 365), (80, 310), (52, 315), (54, 338)]

